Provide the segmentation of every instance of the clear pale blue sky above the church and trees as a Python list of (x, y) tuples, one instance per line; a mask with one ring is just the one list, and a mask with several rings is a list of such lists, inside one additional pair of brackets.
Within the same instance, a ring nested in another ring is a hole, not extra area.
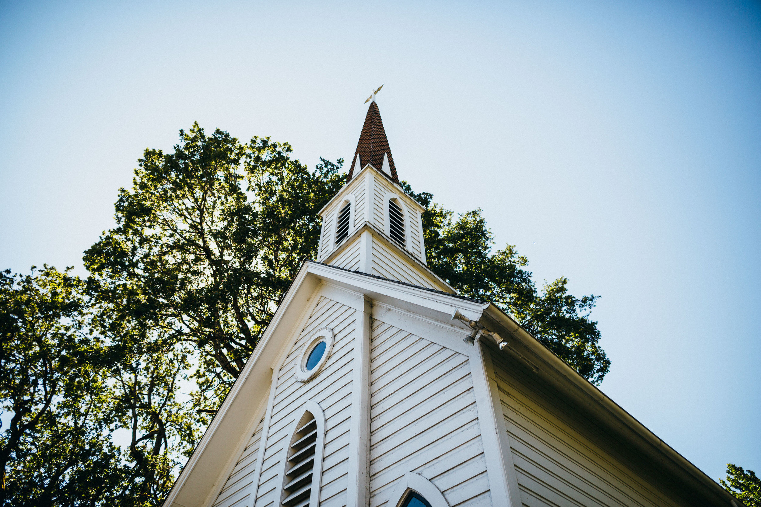
[(400, 179), (600, 296), (600, 388), (710, 477), (761, 473), (761, 6), (0, 2), (0, 269), (81, 265), (198, 121)]

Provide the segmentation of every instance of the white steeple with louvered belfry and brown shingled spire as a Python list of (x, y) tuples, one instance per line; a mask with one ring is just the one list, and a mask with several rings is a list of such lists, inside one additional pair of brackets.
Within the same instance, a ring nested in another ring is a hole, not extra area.
[[(378, 88), (380, 90), (380, 88)], [(320, 210), (317, 261), (390, 280), (454, 293), (428, 268), (422, 213), (402, 189), (388, 147), (375, 90), (346, 184)]]

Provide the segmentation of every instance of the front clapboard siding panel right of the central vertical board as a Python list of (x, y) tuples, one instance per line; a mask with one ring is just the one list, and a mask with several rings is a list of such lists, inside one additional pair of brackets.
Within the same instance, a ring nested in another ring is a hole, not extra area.
[(492, 505), (468, 358), (378, 320), (371, 343), (370, 505), (416, 472), (456, 505)]

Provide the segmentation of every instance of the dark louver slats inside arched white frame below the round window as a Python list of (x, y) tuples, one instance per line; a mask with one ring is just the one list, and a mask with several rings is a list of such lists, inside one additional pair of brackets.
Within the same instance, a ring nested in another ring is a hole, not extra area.
[(296, 429), (291, 439), (291, 448), (288, 449), (282, 501), (285, 507), (307, 507), (312, 493), (317, 421), (309, 412), (301, 418), (301, 423), (304, 423), (304, 420), (307, 422)]

